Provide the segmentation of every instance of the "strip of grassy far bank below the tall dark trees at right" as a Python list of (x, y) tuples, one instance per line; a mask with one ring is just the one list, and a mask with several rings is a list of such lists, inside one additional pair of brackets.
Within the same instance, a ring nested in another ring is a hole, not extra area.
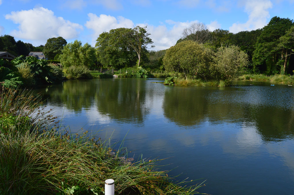
[(271, 75), (264, 74), (245, 74), (238, 77), (238, 80), (258, 81), (258, 82), (271, 82), (276, 84), (294, 84), (294, 76), (287, 75)]

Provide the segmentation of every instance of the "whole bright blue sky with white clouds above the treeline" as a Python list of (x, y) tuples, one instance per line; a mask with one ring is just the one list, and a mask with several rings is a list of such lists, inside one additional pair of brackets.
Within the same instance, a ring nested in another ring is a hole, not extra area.
[(262, 28), (273, 16), (294, 19), (294, 0), (0, 0), (0, 34), (34, 46), (58, 36), (94, 46), (104, 31), (139, 25), (161, 50), (194, 22), (237, 33)]

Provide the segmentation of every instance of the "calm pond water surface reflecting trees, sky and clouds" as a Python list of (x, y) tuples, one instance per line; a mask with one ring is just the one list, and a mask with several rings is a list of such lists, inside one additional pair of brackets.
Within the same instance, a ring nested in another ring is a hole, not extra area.
[(72, 133), (101, 130), (131, 155), (214, 195), (294, 194), (294, 87), (236, 82), (178, 87), (156, 79), (66, 81), (37, 89)]

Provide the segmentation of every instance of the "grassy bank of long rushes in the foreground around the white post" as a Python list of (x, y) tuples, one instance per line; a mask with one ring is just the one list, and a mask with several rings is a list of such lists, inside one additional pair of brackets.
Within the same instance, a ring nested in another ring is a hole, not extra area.
[(135, 161), (120, 143), (68, 133), (27, 91), (0, 89), (0, 98), (0, 194), (103, 194), (109, 178), (116, 194), (195, 194), (201, 186), (172, 182), (156, 160)]

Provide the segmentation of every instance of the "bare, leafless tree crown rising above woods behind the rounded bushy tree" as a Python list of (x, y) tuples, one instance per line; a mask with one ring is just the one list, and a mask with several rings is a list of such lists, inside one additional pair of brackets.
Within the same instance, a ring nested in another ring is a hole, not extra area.
[(192, 23), (189, 28), (182, 32), (184, 40), (193, 40), (197, 43), (206, 43), (211, 41), (211, 32), (204, 23)]

